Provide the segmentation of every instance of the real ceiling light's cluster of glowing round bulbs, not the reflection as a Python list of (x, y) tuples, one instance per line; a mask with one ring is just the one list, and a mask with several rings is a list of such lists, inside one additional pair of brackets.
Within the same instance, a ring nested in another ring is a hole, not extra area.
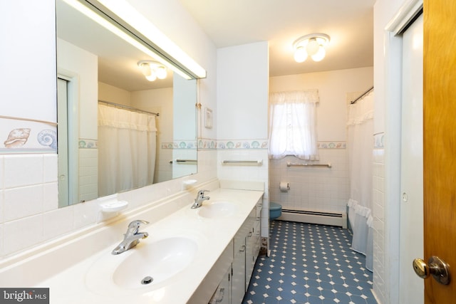
[(296, 39), (293, 43), (294, 60), (301, 63), (311, 56), (313, 61), (322, 61), (329, 41), (330, 38), (325, 33), (311, 33)]

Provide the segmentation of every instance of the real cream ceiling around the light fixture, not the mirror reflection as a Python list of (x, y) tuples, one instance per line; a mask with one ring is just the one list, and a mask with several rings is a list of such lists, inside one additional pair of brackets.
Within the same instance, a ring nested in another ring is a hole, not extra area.
[[(217, 48), (269, 41), (269, 75), (373, 66), (375, 0), (178, 0)], [(293, 42), (326, 33), (326, 58), (296, 63)]]

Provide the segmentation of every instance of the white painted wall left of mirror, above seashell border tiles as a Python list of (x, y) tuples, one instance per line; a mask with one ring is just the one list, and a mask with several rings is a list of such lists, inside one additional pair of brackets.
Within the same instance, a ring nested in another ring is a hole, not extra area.
[(0, 1), (0, 15), (1, 115), (56, 122), (54, 1)]

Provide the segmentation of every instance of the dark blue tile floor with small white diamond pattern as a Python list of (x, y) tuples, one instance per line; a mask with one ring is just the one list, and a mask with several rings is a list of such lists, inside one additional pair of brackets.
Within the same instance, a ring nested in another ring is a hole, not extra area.
[(271, 221), (270, 236), (271, 254), (257, 259), (242, 304), (377, 304), (347, 229)]

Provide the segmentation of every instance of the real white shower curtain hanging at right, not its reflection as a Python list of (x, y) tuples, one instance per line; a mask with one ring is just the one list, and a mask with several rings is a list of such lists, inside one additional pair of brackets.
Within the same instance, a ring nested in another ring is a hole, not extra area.
[(366, 255), (373, 267), (373, 92), (348, 106), (348, 169), (350, 199), (348, 220), (353, 230), (352, 248)]

